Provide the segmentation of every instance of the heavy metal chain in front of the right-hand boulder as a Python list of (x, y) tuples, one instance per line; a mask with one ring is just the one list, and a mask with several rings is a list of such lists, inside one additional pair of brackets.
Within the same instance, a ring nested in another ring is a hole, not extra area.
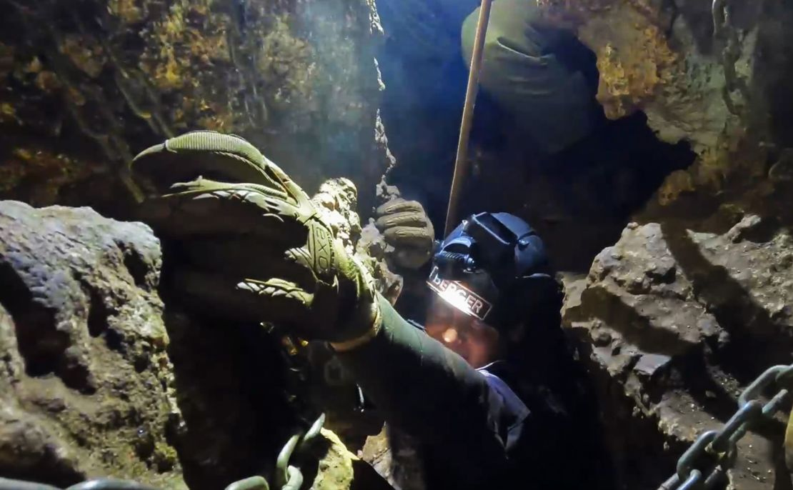
[[(767, 403), (760, 401), (760, 395), (770, 385), (780, 389)], [(793, 365), (773, 366), (766, 369), (738, 397), (738, 410), (717, 431), (707, 431), (691, 444), (677, 461), (676, 473), (661, 484), (659, 490), (691, 490), (691, 488), (713, 488), (722, 480), (727, 469), (732, 468), (737, 458), (737, 442), (754, 423), (772, 418), (787, 400), (788, 389), (793, 389)], [(711, 462), (711, 469), (705, 472), (695, 468), (703, 459)]]

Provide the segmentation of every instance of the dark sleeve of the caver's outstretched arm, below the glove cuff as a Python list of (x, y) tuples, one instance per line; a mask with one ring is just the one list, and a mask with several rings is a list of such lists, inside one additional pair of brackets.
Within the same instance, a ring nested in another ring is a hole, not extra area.
[(383, 327), (363, 346), (339, 353), (385, 420), (460, 465), (484, 473), (506, 462), (503, 394), (465, 359), (412, 327), (379, 298)]

